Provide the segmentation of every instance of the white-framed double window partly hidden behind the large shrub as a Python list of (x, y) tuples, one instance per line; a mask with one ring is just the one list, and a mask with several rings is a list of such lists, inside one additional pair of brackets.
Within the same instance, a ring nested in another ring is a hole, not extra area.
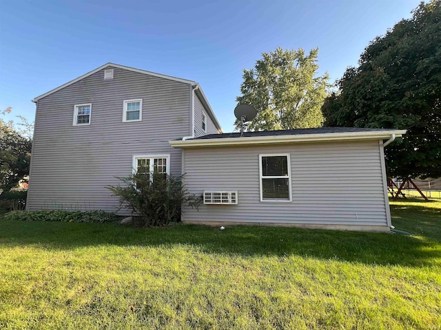
[(170, 155), (135, 155), (133, 156), (134, 174), (147, 175), (150, 181), (153, 177), (170, 175)]

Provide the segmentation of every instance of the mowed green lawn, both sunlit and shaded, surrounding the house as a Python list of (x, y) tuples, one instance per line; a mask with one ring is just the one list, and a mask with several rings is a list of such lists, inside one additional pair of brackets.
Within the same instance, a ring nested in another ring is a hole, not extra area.
[(0, 219), (0, 329), (440, 329), (441, 203), (414, 234)]

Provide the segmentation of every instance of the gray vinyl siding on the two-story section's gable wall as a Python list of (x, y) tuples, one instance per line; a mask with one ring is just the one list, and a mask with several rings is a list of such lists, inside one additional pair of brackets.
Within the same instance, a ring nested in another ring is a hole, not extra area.
[[(133, 155), (170, 154), (181, 174), (181, 150), (169, 140), (187, 136), (191, 87), (114, 68), (65, 87), (37, 102), (28, 210), (115, 210), (105, 186), (132, 173)], [(123, 100), (142, 98), (141, 122), (122, 122)], [(74, 104), (92, 103), (90, 126), (72, 126)]]

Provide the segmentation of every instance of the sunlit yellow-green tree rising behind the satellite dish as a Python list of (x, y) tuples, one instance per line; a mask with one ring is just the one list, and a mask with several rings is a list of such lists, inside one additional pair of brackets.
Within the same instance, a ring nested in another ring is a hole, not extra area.
[[(317, 76), (318, 49), (263, 53), (254, 69), (243, 70), (238, 104), (252, 104), (257, 116), (249, 131), (300, 129), (322, 125), (329, 76)], [(236, 122), (236, 125), (238, 123)]]

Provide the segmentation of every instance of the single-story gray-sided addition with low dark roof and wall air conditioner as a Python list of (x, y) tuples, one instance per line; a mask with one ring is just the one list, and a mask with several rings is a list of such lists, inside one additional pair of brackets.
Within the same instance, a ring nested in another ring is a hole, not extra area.
[(171, 141), (183, 149), (186, 188), (205, 197), (183, 221), (388, 231), (383, 148), (404, 133), (324, 127)]

